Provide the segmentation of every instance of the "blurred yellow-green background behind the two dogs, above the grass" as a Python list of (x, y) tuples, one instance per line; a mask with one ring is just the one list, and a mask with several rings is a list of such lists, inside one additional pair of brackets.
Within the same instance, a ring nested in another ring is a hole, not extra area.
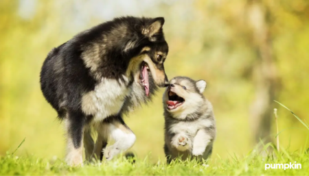
[[(284, 103), (309, 121), (309, 1), (306, 0), (1, 0), (0, 155), (63, 158), (62, 123), (45, 101), (39, 73), (47, 53), (78, 32), (117, 16), (164, 16), (169, 78), (205, 79), (218, 136), (214, 158), (242, 156), (262, 139), (304, 149), (308, 131)], [(131, 151), (163, 160), (163, 90), (125, 119), (137, 141)]]

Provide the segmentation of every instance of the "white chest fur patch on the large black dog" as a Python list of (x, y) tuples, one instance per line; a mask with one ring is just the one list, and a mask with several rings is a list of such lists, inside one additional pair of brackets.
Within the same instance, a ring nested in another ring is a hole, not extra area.
[(102, 78), (94, 90), (82, 96), (82, 111), (87, 115), (93, 115), (93, 121), (102, 121), (117, 114), (130, 93), (127, 83), (126, 77), (124, 81)]

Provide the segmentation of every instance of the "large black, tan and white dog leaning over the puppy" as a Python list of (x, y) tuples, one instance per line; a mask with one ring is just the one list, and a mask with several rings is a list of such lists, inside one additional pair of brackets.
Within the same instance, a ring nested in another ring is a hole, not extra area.
[[(65, 121), (69, 165), (85, 156), (106, 159), (133, 146), (135, 134), (122, 114), (146, 103), (168, 79), (163, 62), (168, 43), (164, 18), (115, 18), (52, 49), (41, 70), (41, 90)], [(91, 130), (98, 132), (93, 142)]]

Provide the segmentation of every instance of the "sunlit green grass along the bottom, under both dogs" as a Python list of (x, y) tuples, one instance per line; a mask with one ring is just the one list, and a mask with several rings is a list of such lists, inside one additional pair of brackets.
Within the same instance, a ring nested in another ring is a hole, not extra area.
[[(301, 118), (293, 112), (292, 114), (309, 129)], [(19, 147), (22, 147), (24, 141), (25, 139)], [(203, 163), (176, 161), (170, 165), (165, 164), (165, 161), (151, 163), (147, 158), (144, 160), (137, 158), (135, 164), (132, 164), (125, 158), (119, 157), (111, 162), (95, 162), (84, 164), (82, 167), (71, 167), (57, 158), (47, 160), (32, 155), (18, 157), (14, 154), (16, 150), (0, 158), (0, 175), (309, 175), (307, 142), (303, 149), (298, 151), (288, 151), (283, 147), (277, 151), (275, 144), (271, 142), (264, 144), (261, 140), (255, 149), (241, 158), (231, 155), (229, 159), (222, 160), (219, 155), (213, 155), (210, 160)], [(290, 162), (301, 164), (301, 168), (265, 170), (265, 164)]]

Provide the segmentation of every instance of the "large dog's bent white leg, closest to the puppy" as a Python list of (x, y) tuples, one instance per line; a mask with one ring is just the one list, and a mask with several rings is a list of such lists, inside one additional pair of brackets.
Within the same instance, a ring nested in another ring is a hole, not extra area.
[(111, 160), (118, 153), (130, 149), (135, 143), (136, 137), (133, 131), (124, 123), (121, 116), (115, 116), (115, 118), (106, 123), (106, 125), (108, 125), (111, 138), (115, 140), (113, 145), (103, 150), (106, 160)]

